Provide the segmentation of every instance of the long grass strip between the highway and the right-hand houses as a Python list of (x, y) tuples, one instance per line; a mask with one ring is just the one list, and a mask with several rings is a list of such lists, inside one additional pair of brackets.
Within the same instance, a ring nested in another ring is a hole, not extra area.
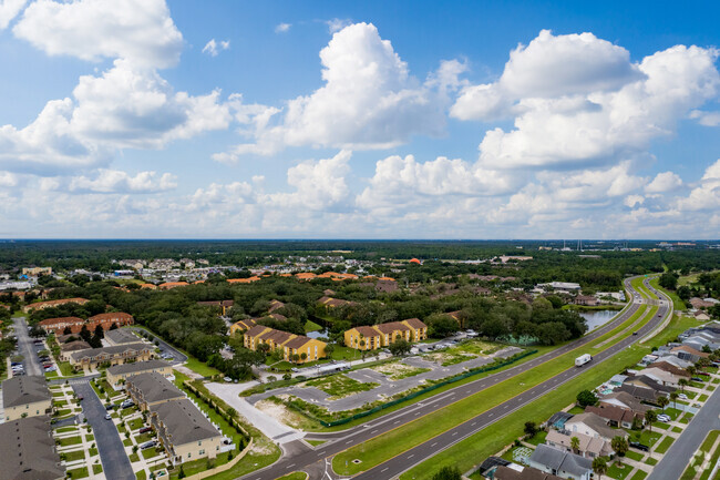
[[(677, 323), (677, 320), (673, 320)], [(675, 324), (671, 323), (670, 326)], [(676, 334), (677, 336), (677, 334)], [(657, 338), (657, 337), (656, 337)], [(573, 382), (573, 388), (559, 389), (534, 401), (512, 415), (503, 418), (482, 431), (457, 442), (442, 453), (415, 466), (413, 469), (401, 476), (405, 479), (430, 479), (440, 468), (451, 466), (459, 467), (461, 471), (470, 470), (482, 459), (494, 455), (523, 430), (525, 421), (545, 421), (555, 411), (562, 409), (575, 400), (577, 391), (584, 388), (594, 388), (605, 381), (608, 376), (620, 371), (627, 365), (638, 361), (649, 348), (634, 346), (623, 350), (613, 358), (600, 364), (603, 368), (592, 368), (580, 378)], [(416, 443), (416, 442), (412, 442)], [(655, 461), (657, 462), (657, 461)], [(367, 468), (367, 467), (366, 467)], [(363, 469), (366, 469), (363, 468)]]

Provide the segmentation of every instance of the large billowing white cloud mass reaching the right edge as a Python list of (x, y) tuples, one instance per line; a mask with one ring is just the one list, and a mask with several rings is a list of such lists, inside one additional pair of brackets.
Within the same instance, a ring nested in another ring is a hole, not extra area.
[(451, 114), (514, 118), (513, 130), (485, 133), (480, 159), (487, 168), (617, 163), (717, 96), (717, 55), (677, 45), (632, 63), (627, 50), (590, 33), (543, 31), (511, 53), (497, 82), (466, 86)]

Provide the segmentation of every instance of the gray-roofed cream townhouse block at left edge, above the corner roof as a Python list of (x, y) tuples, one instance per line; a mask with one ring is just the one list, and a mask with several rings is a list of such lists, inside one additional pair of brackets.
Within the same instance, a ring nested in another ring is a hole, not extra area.
[[(52, 395), (45, 377), (12, 377), (2, 382), (6, 421), (39, 417), (52, 412)], [(2, 451), (2, 450), (0, 450)]]

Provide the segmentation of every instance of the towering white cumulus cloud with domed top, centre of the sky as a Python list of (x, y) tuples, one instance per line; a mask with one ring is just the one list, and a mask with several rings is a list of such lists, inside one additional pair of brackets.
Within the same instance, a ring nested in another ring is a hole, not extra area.
[[(325, 85), (288, 101), (278, 122), (258, 127), (256, 142), (236, 146), (232, 155), (270, 154), (300, 145), (387, 149), (408, 142), (413, 134), (443, 132), (445, 92), (459, 83), (453, 72), (462, 69), (445, 65), (441, 75), (423, 84), (370, 23), (335, 33), (320, 60)], [(265, 116), (277, 112), (267, 108)]]

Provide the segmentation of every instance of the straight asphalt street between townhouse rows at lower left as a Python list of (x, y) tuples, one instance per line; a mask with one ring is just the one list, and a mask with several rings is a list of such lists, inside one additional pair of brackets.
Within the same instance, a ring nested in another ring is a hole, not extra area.
[(85, 398), (82, 401), (82, 411), (93, 428), (105, 477), (113, 480), (135, 480), (120, 433), (112, 421), (105, 420), (105, 407), (95, 395), (95, 390), (88, 381), (75, 380), (71, 385), (75, 395)]

